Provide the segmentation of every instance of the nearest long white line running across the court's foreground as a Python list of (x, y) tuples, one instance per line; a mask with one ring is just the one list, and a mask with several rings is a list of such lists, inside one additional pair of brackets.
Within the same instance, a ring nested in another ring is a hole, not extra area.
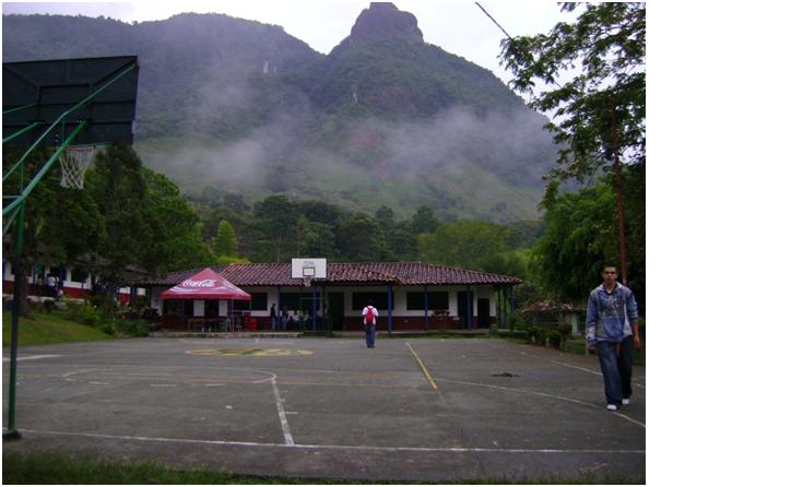
[(125, 435), (99, 435), (91, 432), (67, 432), (67, 431), (42, 431), (36, 429), (20, 429), (24, 433), (54, 435), (66, 437), (104, 438), (115, 440), (155, 441), (161, 443), (196, 443), (196, 444), (222, 444), (231, 447), (268, 447), (268, 448), (292, 448), (299, 450), (361, 450), (381, 452), (435, 452), (435, 453), (618, 453), (618, 454), (643, 454), (646, 450), (601, 450), (601, 449), (522, 449), (522, 448), (435, 448), (435, 447), (368, 447), (347, 444), (287, 444), (287, 443), (260, 443), (256, 441), (223, 441), (223, 440), (193, 440), (187, 438), (151, 438), (133, 437)]

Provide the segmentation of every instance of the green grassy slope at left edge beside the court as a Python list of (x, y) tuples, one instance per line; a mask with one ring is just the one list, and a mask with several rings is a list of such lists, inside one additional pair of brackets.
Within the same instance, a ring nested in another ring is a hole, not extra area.
[[(114, 340), (96, 328), (67, 319), (64, 311), (33, 311), (33, 320), (20, 317), (17, 345)], [(3, 348), (11, 346), (11, 312), (3, 310)]]

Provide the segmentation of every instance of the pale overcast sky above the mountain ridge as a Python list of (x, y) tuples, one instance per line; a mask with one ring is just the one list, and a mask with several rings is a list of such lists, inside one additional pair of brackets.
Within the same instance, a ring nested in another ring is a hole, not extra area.
[[(487, 68), (501, 79), (499, 41), (505, 34), (473, 1), (399, 0), (400, 10), (418, 20), (424, 40)], [(134, 2), (3, 2), (3, 13), (104, 15), (123, 22), (164, 20), (181, 12), (217, 12), (281, 25), (312, 49), (329, 54), (351, 32), (368, 0), (306, 1), (134, 1)], [(554, 1), (482, 0), (485, 10), (511, 36), (546, 33), (556, 22), (571, 19)]]

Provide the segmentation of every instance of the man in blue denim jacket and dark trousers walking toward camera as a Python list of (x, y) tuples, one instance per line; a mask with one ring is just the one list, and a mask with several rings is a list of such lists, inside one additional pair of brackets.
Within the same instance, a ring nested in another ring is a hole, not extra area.
[(641, 346), (636, 298), (616, 277), (616, 266), (606, 265), (604, 282), (589, 296), (586, 317), (586, 343), (600, 357), (609, 411), (629, 404), (633, 351)]

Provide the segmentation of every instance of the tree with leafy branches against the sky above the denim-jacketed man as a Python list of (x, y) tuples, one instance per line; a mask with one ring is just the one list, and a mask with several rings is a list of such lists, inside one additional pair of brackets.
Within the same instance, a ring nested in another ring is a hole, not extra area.
[[(564, 3), (574, 12), (577, 3)], [(557, 86), (534, 95), (530, 107), (554, 111), (547, 129), (560, 146), (548, 176), (545, 199), (565, 179), (583, 180), (600, 170), (616, 170), (621, 273), (627, 282), (622, 163), (647, 159), (647, 7), (646, 3), (587, 4), (574, 24), (560, 22), (550, 32), (503, 41), (503, 57), (516, 90), (532, 94), (533, 78)], [(570, 81), (558, 80), (579, 66)], [(622, 159), (625, 161), (622, 161)]]

